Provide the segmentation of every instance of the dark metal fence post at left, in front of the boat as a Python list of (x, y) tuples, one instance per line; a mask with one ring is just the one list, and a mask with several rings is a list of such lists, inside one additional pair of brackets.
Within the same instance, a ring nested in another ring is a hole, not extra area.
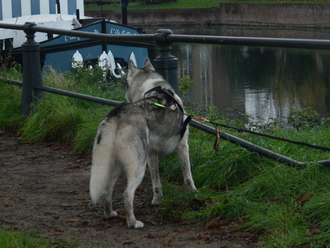
[(34, 22), (25, 22), (24, 32), (26, 42), (22, 44), (23, 52), (23, 84), (21, 114), (30, 115), (32, 104), (42, 97), (42, 91), (34, 89), (34, 86), (42, 86), (40, 44), (35, 41), (35, 33), (30, 29), (37, 25)]

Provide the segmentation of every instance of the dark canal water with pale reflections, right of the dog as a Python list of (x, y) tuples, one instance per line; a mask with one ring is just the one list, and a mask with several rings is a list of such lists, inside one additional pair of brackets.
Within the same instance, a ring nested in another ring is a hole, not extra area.
[[(157, 28), (147, 33), (156, 32)], [(171, 28), (174, 34), (330, 39), (330, 30), (242, 27)], [(249, 114), (258, 123), (310, 107), (330, 116), (330, 51), (252, 46), (173, 44), (179, 75), (195, 82), (189, 100)]]

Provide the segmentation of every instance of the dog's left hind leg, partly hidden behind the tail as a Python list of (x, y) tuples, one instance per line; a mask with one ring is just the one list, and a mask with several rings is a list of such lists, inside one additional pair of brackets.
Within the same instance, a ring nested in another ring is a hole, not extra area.
[(110, 172), (109, 183), (107, 185), (105, 193), (103, 194), (104, 210), (107, 218), (118, 215), (118, 213), (116, 211), (113, 211), (112, 209), (112, 194), (115, 184), (120, 175), (120, 171), (121, 170), (119, 168), (112, 169), (112, 171)]

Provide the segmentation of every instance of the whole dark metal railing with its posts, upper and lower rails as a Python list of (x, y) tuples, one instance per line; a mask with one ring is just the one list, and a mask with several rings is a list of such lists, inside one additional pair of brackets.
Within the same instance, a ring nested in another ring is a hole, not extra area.
[[(106, 41), (156, 42), (159, 47), (158, 50), (160, 55), (153, 60), (153, 66), (158, 73), (160, 73), (166, 80), (170, 82), (176, 92), (178, 92), (178, 59), (171, 54), (171, 44), (174, 42), (330, 49), (330, 40), (174, 35), (170, 29), (159, 29), (155, 34), (150, 35), (107, 35), (80, 32), (77, 30), (40, 27), (35, 23), (30, 22), (26, 22), (24, 25), (0, 23), (0, 28), (24, 30), (26, 34), (26, 42), (22, 44), (23, 82), (6, 79), (6, 82), (8, 83), (22, 86), (21, 114), (23, 115), (31, 114), (31, 108), (34, 106), (32, 103), (38, 101), (38, 99), (42, 97), (42, 91), (110, 106), (118, 106), (120, 104), (120, 102), (116, 101), (86, 96), (70, 91), (43, 86), (39, 55), (40, 45), (34, 40), (36, 32)], [(192, 120), (190, 121), (189, 125), (209, 134), (216, 135), (214, 128), (197, 121)], [(282, 156), (281, 154), (259, 147), (224, 132), (220, 133), (220, 138), (235, 144), (239, 144), (242, 147), (255, 151), (262, 156), (274, 159), (280, 163), (288, 164), (295, 168), (304, 168), (307, 165), (307, 163), (292, 160)], [(330, 166), (330, 161), (318, 161), (315, 163), (319, 163), (324, 166)]]

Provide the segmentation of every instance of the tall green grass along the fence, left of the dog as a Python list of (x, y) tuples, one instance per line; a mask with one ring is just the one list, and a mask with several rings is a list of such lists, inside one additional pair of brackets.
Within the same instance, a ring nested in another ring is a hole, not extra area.
[[(13, 78), (13, 73), (5, 77)], [(52, 68), (43, 72), (45, 86), (79, 92), (101, 98), (124, 101), (123, 80), (108, 80), (103, 71), (86, 68), (74, 73), (57, 73)], [(78, 151), (90, 153), (98, 124), (111, 107), (68, 97), (45, 93), (44, 99), (35, 106), (36, 111), (28, 118), (19, 115), (21, 88), (0, 84), (3, 100), (0, 108), (0, 128), (16, 127), (22, 138), (31, 142), (56, 140), (72, 142)], [(12, 97), (14, 96), (14, 97)]]

